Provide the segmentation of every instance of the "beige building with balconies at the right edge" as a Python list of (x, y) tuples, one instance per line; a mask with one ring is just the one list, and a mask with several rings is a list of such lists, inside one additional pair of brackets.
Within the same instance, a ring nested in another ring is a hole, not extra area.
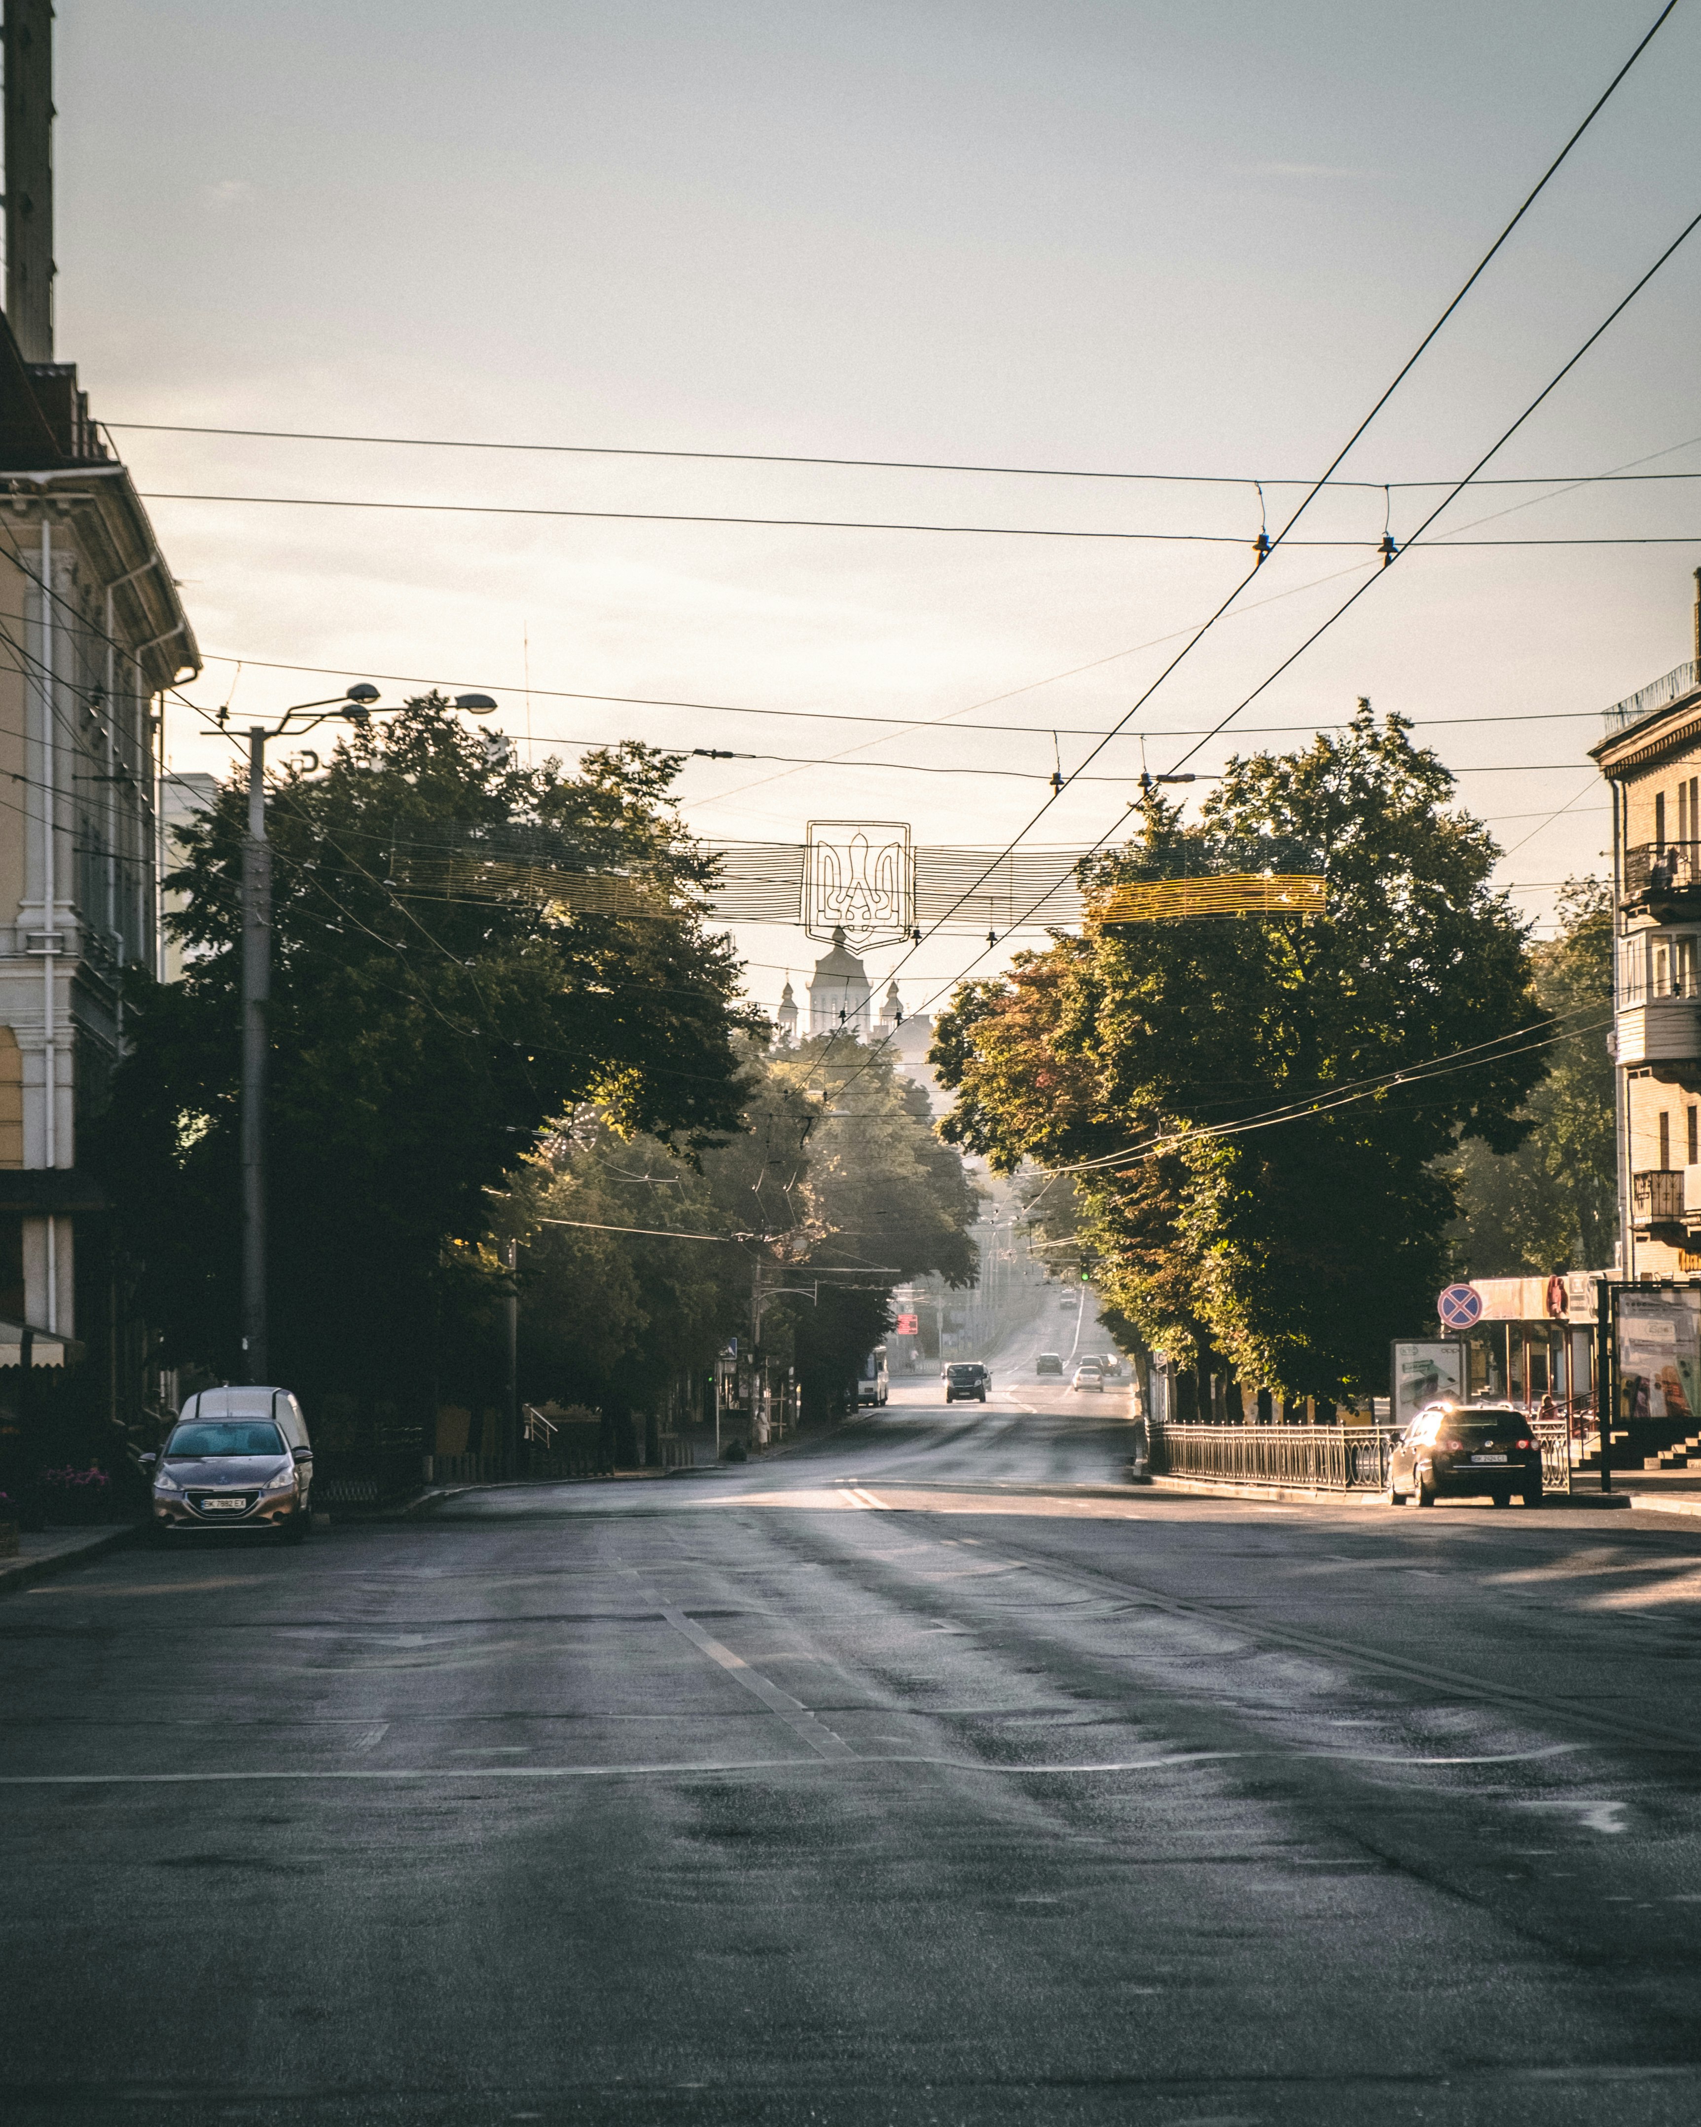
[(1701, 570), (1697, 657), (1607, 710), (1620, 1263), (1701, 1270)]

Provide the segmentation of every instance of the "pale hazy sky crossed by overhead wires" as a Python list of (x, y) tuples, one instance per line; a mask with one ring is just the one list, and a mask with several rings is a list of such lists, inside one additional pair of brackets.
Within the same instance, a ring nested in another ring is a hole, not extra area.
[[(1114, 723), (1212, 610), (1259, 530), (1250, 481), (1323, 470), (1656, 13), (62, 0), (57, 353), (106, 421), (1240, 483), (117, 438), (142, 491), (1231, 536), (151, 504), (208, 653), (189, 691), (215, 704), (234, 683), (238, 723), (344, 679), (387, 700), (408, 689), (383, 674), (440, 679), (495, 693), (538, 751), (857, 749), (693, 761), (704, 836), (868, 817), (1001, 842), (1046, 795), (1050, 732)], [(1701, 206), (1697, 81), (1701, 4), (1682, 0), (1344, 474), (1456, 476), (1522, 411)], [(1561, 485), (1661, 453), (1641, 470), (1701, 474), (1699, 291), (1701, 234), (1491, 472)], [(1276, 525), (1297, 489), (1267, 496)], [(1314, 506), (1306, 534), (1374, 547), (1420, 506), (1374, 485)], [(1599, 710), (1692, 653), (1701, 481), (1484, 489), (1444, 523), (1476, 519), (1476, 538), (1686, 542), (1414, 551), (1240, 719), (1242, 747), (1297, 744), (1361, 693), (1414, 717), (1546, 919), (1550, 883), (1607, 840), (1584, 757)], [(1278, 553), (1095, 764), (1112, 781), (1074, 785), (1033, 838), (1097, 840), (1138, 734), (1167, 768), (1193, 744), (1172, 734), (1231, 708), (1369, 566), (1367, 547)], [(1493, 717), (1542, 721), (1439, 721)], [(1063, 768), (1091, 742), (1061, 736)], [(170, 753), (230, 757), (187, 713)], [(763, 1002), (819, 951), (780, 927), (740, 942)], [(974, 951), (929, 942), (906, 1002)]]

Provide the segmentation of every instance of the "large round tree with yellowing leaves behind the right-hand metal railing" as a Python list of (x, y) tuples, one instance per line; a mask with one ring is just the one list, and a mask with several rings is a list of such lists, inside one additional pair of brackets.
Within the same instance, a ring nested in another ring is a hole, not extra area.
[(1542, 1070), (1495, 844), (1408, 730), (1361, 702), (1233, 759), (1193, 827), (1150, 793), (1089, 881), (1320, 870), (1325, 915), (1057, 938), (965, 985), (933, 1049), (948, 1138), (1082, 1168), (1097, 1283), (1150, 1346), (1289, 1395), (1384, 1385), (1446, 1268), (1435, 1159), (1518, 1144)]

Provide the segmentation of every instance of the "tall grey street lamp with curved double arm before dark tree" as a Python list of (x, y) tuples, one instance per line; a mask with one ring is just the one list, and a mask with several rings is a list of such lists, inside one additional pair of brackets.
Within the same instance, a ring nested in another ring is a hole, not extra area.
[[(276, 723), (249, 725), (249, 832), (242, 838), (242, 1376), (264, 1383), (266, 1357), (266, 1006), (272, 995), (272, 851), (266, 842), (266, 740), (332, 717), (366, 723), (378, 689), (355, 681), (325, 702), (298, 702)], [(228, 710), (219, 713), (219, 723)], [(306, 717), (306, 723), (296, 723)]]

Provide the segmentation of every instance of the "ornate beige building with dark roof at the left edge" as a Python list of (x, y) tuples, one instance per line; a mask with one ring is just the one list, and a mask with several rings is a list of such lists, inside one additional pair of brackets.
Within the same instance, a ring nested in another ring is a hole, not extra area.
[(0, 319), (0, 1317), (102, 1349), (115, 1259), (79, 1138), (125, 970), (157, 970), (157, 696), (198, 670), (74, 366), (26, 362)]

